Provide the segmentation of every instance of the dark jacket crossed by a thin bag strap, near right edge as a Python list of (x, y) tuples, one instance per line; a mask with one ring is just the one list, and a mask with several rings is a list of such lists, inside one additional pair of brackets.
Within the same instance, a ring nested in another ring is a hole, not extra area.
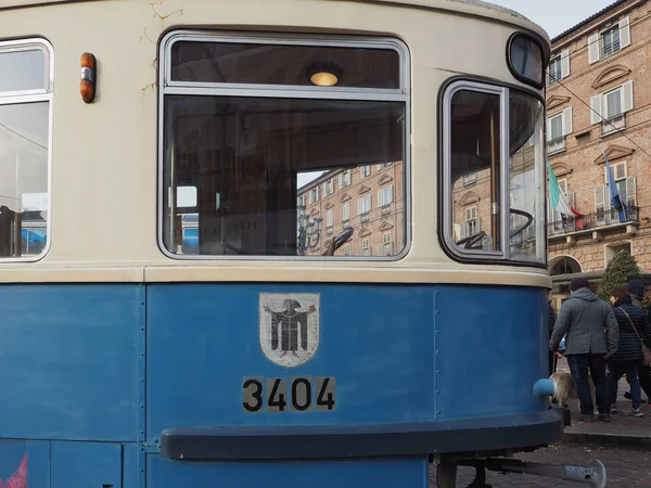
[(644, 311), (630, 303), (615, 301), (613, 311), (620, 325), (620, 347), (611, 359), (613, 361), (641, 361), (644, 359), (644, 356), (640, 339), (623, 310), (628, 313), (630, 321), (638, 331), (638, 334), (644, 339), (644, 343), (651, 344), (651, 325), (647, 320)]

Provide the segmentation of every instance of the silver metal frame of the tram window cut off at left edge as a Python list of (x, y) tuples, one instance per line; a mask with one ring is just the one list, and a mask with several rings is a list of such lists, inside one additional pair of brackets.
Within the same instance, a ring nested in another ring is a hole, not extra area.
[(25, 39), (12, 39), (0, 41), (0, 54), (21, 51), (42, 51), (46, 55), (46, 79), (44, 89), (14, 90), (0, 92), (0, 105), (24, 105), (28, 103), (48, 103), (48, 203), (46, 219), (46, 245), (42, 252), (34, 256), (0, 257), (0, 264), (4, 262), (37, 262), (43, 259), (52, 246), (52, 134), (54, 113), (54, 48), (42, 37), (30, 37)]

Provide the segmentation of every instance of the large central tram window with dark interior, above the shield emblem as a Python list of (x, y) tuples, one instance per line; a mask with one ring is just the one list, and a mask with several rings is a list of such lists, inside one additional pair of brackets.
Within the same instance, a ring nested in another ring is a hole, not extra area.
[[(184, 210), (168, 196), (177, 187), (197, 190), (197, 251), (183, 258), (305, 258), (321, 256), (332, 217), (299, 209), (298, 194), (309, 206), (333, 193), (340, 174), (343, 183), (349, 171), (370, 172), (369, 162), (408, 164), (406, 46), (282, 36), (182, 30), (162, 40), (158, 233), (169, 257), (182, 239)], [(336, 90), (307, 76), (312, 60), (346, 66)], [(370, 209), (370, 198), (360, 205)]]

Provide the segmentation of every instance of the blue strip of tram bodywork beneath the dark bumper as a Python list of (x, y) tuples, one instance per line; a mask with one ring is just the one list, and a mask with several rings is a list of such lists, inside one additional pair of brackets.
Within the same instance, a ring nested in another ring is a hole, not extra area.
[(427, 460), (187, 463), (148, 458), (148, 487), (426, 488)]

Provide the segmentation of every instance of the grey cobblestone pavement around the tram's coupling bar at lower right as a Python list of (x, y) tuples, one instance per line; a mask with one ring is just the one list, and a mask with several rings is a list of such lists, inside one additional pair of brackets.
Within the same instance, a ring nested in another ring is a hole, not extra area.
[[(515, 458), (528, 462), (552, 464), (576, 464), (587, 466), (598, 459), (605, 465), (609, 488), (649, 488), (651, 487), (651, 452), (615, 449), (551, 446)], [(587, 488), (584, 483), (564, 481), (558, 478), (487, 472), (486, 483), (493, 488)], [(457, 486), (465, 488), (474, 478), (474, 470), (460, 467)], [(436, 487), (436, 468), (430, 470), (430, 488)]]

